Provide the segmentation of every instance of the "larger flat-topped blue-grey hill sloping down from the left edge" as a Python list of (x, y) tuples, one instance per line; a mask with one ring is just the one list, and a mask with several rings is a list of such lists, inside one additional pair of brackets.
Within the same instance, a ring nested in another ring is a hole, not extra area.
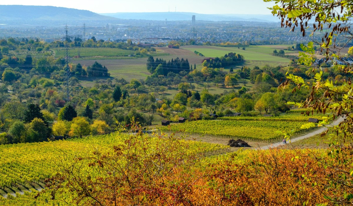
[(0, 23), (14, 22), (73, 22), (73, 21), (107, 21), (118, 20), (114, 17), (103, 16), (97, 13), (55, 6), (23, 6), (0, 5)]

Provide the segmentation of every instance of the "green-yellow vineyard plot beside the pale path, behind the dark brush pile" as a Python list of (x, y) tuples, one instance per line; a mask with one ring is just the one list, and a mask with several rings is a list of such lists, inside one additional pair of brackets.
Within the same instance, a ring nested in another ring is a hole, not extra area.
[[(225, 118), (227, 119), (227, 118)], [(266, 121), (264, 121), (266, 119)], [(247, 121), (239, 121), (247, 120)], [(301, 132), (302, 120), (269, 119), (263, 117), (229, 118), (227, 120), (198, 120), (162, 127), (162, 131), (185, 132), (197, 135), (213, 135), (225, 138), (239, 138), (272, 141), (282, 138), (277, 131)]]

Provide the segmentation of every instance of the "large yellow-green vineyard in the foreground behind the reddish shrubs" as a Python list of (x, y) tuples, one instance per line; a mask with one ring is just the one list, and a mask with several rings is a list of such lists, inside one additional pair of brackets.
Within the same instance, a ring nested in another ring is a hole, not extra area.
[[(167, 136), (143, 135), (153, 144), (163, 142)], [(84, 156), (92, 151), (106, 151), (114, 145), (123, 145), (131, 135), (114, 133), (55, 142), (0, 145), (0, 193), (12, 188), (36, 188), (57, 172), (55, 160), (63, 156)], [(162, 139), (161, 139), (162, 138)], [(188, 155), (204, 155), (210, 151), (224, 150), (227, 146), (175, 139), (183, 144)], [(150, 145), (150, 148), (153, 148)]]

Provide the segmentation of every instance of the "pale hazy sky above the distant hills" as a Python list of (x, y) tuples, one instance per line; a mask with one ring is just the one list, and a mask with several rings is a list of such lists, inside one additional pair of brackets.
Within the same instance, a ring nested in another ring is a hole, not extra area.
[[(59, 6), (96, 13), (195, 12), (204, 14), (270, 14), (273, 3), (263, 0), (16, 0), (16, 5)], [(3, 4), (3, 3), (1, 3)]]

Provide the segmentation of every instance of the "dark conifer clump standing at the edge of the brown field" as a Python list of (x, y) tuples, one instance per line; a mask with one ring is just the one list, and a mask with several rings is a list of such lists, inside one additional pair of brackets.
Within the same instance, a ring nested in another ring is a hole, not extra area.
[(178, 74), (180, 71), (190, 71), (189, 60), (184, 58), (171, 59), (168, 62), (162, 58), (154, 59), (154, 57), (149, 56), (146, 63), (147, 70), (154, 75), (167, 75), (169, 72)]

